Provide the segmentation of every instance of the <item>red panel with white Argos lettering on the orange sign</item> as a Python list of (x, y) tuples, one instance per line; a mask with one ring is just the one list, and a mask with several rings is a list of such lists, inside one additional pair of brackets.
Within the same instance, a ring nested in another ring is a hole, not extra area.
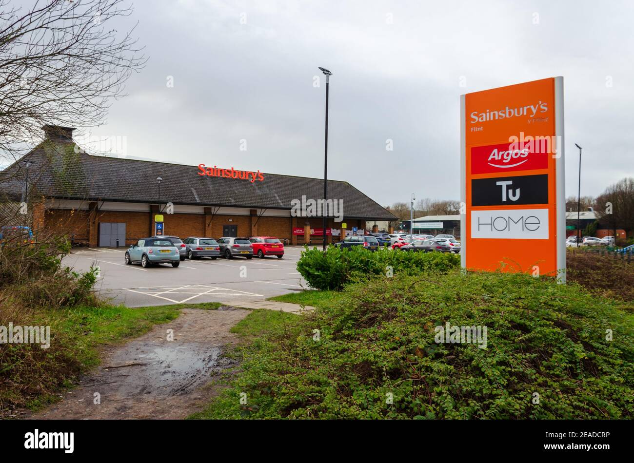
[(535, 170), (548, 167), (548, 156), (533, 149), (512, 149), (508, 143), (471, 148), (471, 174)]

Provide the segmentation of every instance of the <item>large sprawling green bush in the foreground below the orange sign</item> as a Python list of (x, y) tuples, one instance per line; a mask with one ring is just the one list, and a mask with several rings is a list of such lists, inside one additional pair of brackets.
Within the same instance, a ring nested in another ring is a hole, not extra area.
[[(200, 416), (631, 418), (634, 317), (619, 304), (523, 274), (351, 284), (257, 339)], [(446, 322), (486, 326), (486, 348), (436, 343)]]

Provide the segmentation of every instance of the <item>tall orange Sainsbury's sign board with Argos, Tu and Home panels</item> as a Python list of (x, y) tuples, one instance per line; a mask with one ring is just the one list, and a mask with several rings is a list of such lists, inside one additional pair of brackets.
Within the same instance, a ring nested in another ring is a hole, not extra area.
[(565, 269), (562, 91), (555, 77), (462, 96), (463, 267)]

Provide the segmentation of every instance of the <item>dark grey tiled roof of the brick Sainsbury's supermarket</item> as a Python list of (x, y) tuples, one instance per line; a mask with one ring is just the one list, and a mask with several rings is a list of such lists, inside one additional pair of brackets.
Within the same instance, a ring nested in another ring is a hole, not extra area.
[[(323, 198), (323, 180), (267, 174), (264, 181), (198, 175), (198, 166), (148, 162), (74, 153), (73, 144), (45, 141), (29, 153), (35, 162), (29, 171), (29, 189), (51, 198), (156, 203), (178, 205), (291, 208), (291, 200)], [(231, 168), (231, 162), (218, 167)], [(4, 170), (15, 172), (17, 163)], [(1, 173), (0, 173), (1, 175)], [(23, 176), (22, 176), (23, 178)], [(6, 184), (6, 182), (5, 182)], [(13, 184), (11, 190), (20, 191)], [(328, 180), (328, 198), (344, 200), (345, 219), (396, 220), (396, 217), (348, 182)]]

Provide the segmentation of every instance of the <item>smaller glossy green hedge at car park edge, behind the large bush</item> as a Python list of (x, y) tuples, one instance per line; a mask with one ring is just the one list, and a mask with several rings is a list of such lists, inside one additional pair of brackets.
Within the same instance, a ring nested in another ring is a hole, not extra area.
[(421, 253), (380, 249), (370, 252), (361, 246), (340, 249), (328, 246), (327, 250), (309, 249), (304, 246), (297, 262), (297, 270), (315, 289), (340, 289), (349, 282), (368, 276), (394, 274), (410, 275), (422, 272), (447, 273), (460, 265), (460, 257), (452, 253)]

